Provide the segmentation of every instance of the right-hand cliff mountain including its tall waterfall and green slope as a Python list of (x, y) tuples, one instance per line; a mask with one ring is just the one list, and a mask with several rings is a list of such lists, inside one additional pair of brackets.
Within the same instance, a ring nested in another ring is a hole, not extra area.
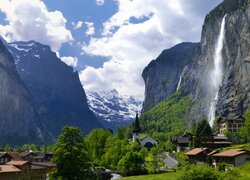
[[(162, 55), (182, 43), (165, 50), (145, 68), (141, 118), (145, 129), (157, 130), (169, 124), (166, 128), (171, 131), (169, 127), (178, 118), (187, 127), (202, 118), (212, 124), (216, 116), (244, 115), (250, 107), (249, 3), (224, 0), (206, 16), (201, 41), (190, 46), (186, 60), (180, 58), (176, 63), (175, 57)], [(182, 48), (176, 50), (176, 54), (182, 53)], [(172, 108), (171, 114), (168, 108)]]

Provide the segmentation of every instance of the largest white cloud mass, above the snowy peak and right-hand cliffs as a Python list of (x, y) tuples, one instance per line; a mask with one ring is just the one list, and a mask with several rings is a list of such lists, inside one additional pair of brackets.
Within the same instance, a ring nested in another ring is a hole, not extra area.
[[(80, 73), (86, 89), (117, 89), (141, 96), (143, 68), (163, 49), (182, 41), (199, 41), (205, 15), (222, 0), (118, 1), (118, 11), (104, 23), (103, 36), (91, 38), (83, 52), (109, 57), (102, 68)], [(136, 18), (136, 24), (131, 22)]]

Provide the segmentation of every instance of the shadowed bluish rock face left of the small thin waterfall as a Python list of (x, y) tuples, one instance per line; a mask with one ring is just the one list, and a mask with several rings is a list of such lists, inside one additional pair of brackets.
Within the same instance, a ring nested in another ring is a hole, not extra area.
[(149, 110), (177, 90), (181, 74), (189, 68), (198, 43), (181, 43), (164, 50), (144, 69), (145, 99), (142, 112)]

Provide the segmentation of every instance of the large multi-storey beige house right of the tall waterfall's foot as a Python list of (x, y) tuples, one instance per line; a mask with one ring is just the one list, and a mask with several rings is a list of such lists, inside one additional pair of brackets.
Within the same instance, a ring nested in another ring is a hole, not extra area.
[(226, 132), (239, 133), (240, 128), (245, 126), (245, 118), (238, 116), (236, 118), (220, 117), (217, 121), (220, 129), (220, 134), (225, 135)]

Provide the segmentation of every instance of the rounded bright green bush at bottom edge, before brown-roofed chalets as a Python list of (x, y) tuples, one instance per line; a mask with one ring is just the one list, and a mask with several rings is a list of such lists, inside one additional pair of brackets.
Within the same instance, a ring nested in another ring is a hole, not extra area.
[(218, 178), (218, 172), (205, 164), (186, 166), (179, 177), (180, 180), (217, 180)]

